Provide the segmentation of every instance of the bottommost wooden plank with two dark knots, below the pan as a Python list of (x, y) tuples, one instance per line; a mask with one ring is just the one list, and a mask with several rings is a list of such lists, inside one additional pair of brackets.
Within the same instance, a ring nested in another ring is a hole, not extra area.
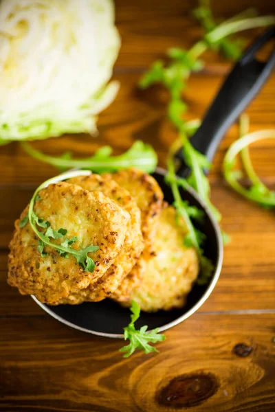
[(0, 326), (3, 412), (275, 409), (271, 314), (195, 314), (166, 332), (159, 354), (127, 360), (118, 352), (123, 341), (50, 317)]

